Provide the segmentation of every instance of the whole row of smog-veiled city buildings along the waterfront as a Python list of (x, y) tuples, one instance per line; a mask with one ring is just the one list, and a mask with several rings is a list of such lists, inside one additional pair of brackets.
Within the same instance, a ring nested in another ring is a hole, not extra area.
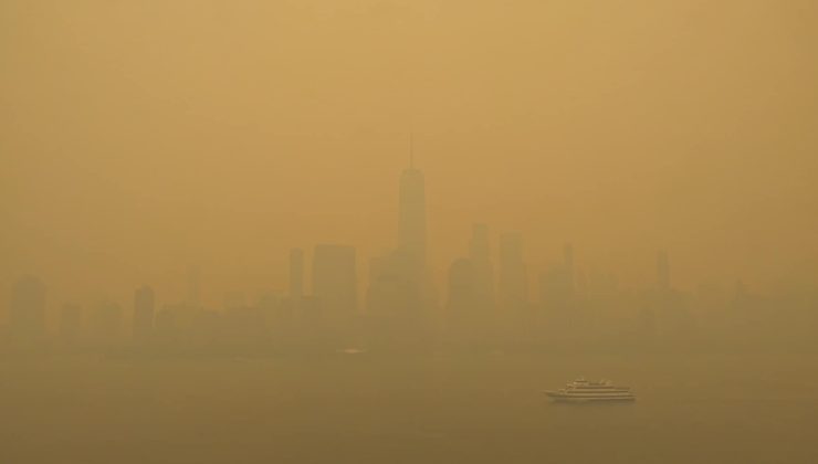
[[(370, 260), (363, 298), (355, 247), (322, 244), (312, 253), (311, 294), (305, 292), (305, 253), (294, 249), (283, 297), (265, 295), (248, 304), (240, 294), (231, 294), (223, 310), (211, 310), (201, 304), (199, 273), (193, 268), (182, 304), (159, 307), (154, 289), (143, 286), (127, 308), (108, 302), (83, 312), (66, 304), (56, 334), (48, 334), (45, 285), (23, 277), (12, 288), (0, 347), (59, 344), (217, 351), (690, 347), (776, 334), (770, 327), (782, 320), (780, 302), (749, 295), (741, 285), (732, 292), (712, 286), (696, 293), (674, 289), (664, 252), (657, 255), (653, 286), (623, 289), (610, 274), (578, 268), (573, 246), (565, 245), (562, 262), (539, 273), (538, 296), (531, 298), (520, 233), (500, 235), (495, 263), (489, 226), (475, 224), (468, 250), (468, 256), (449, 267), (441, 297), (427, 264), (424, 179), (410, 167), (400, 177), (397, 244)], [(811, 309), (809, 304), (797, 308), (798, 314), (818, 313)]]

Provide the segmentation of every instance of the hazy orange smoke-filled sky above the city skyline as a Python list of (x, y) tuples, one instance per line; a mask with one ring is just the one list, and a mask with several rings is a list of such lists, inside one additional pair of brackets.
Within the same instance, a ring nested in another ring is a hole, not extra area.
[(0, 287), (168, 302), (197, 263), (216, 304), (316, 243), (365, 273), (409, 133), (439, 278), (486, 222), (532, 274), (570, 241), (768, 285), (818, 259), (816, 82), (811, 0), (0, 1)]

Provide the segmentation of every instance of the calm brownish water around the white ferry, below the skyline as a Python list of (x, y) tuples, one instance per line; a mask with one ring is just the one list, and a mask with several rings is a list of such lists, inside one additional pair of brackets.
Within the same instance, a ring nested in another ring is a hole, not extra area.
[[(0, 463), (818, 462), (808, 356), (0, 360)], [(577, 376), (633, 404), (553, 404)]]

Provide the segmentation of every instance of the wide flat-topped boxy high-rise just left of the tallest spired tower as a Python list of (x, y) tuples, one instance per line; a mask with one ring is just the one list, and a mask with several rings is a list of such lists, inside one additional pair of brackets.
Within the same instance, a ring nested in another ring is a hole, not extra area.
[(358, 306), (355, 247), (317, 245), (313, 255), (313, 296), (327, 324), (345, 324)]

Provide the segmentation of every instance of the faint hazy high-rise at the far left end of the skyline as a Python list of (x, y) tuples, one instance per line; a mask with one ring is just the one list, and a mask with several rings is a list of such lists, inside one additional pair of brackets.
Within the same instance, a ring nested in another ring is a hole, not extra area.
[(9, 331), (19, 340), (36, 340), (45, 334), (45, 285), (36, 277), (19, 280), (11, 291)]

